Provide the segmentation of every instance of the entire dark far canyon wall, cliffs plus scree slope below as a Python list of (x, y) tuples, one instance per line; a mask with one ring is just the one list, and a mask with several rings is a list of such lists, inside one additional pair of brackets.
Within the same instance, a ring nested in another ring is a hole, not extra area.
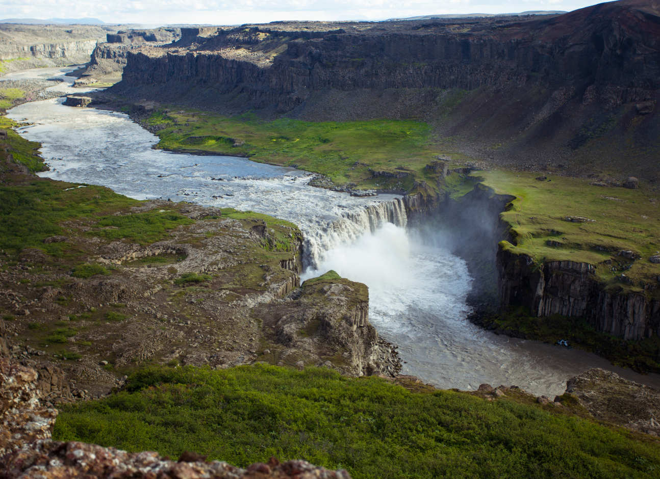
[[(116, 90), (229, 113), (423, 118), (495, 160), (579, 170), (624, 135), (659, 150), (659, 38), (657, 1), (636, 0), (541, 18), (276, 22), (131, 51)], [(657, 176), (629, 156), (622, 168)]]

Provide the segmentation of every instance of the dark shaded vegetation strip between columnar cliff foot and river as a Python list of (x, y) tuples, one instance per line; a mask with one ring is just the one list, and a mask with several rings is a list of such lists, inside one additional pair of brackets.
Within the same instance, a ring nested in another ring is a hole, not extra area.
[(583, 318), (552, 315), (534, 317), (526, 308), (502, 311), (479, 318), (479, 324), (507, 335), (556, 344), (568, 340), (570, 346), (595, 352), (613, 364), (638, 372), (660, 373), (660, 338), (623, 340), (595, 331)]

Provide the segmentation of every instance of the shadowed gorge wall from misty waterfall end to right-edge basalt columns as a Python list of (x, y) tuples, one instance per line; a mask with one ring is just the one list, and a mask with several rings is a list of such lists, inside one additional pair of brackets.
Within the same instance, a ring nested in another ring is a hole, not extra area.
[[(442, 162), (430, 166), (442, 170), (439, 164)], [(451, 170), (444, 175), (447, 173)], [(442, 175), (438, 180), (442, 181)], [(583, 318), (596, 331), (626, 340), (660, 335), (657, 282), (628, 284), (635, 288), (625, 289), (624, 284), (601, 282), (595, 274), (596, 265), (539, 263), (515, 251), (510, 226), (500, 218), (500, 212), (513, 199), (476, 183), (471, 192), (458, 199), (446, 193), (417, 194), (405, 196), (403, 204), (413, 230), (422, 231), (431, 241), (440, 241), (465, 259), (473, 276), (468, 301), (478, 315), (523, 306), (536, 317), (558, 314)]]

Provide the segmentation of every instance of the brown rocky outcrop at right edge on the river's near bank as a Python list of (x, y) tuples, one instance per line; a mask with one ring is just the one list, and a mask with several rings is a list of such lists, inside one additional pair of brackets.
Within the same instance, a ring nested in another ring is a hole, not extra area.
[(566, 392), (598, 420), (660, 435), (660, 391), (593, 368), (569, 379)]

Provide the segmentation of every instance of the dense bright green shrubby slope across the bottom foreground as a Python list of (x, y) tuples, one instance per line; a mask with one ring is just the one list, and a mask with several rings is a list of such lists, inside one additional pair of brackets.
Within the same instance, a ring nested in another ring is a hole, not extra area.
[(376, 378), (263, 364), (134, 373), (61, 408), (54, 439), (183, 451), (238, 466), (306, 459), (354, 478), (652, 477), (657, 439), (511, 399), (413, 393)]

